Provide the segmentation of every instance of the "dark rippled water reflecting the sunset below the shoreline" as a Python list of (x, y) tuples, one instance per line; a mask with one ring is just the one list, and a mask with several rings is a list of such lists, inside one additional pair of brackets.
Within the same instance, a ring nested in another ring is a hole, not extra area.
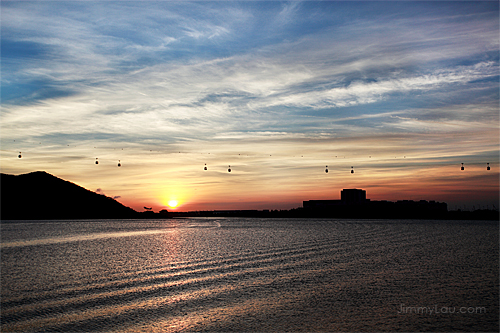
[(1, 223), (1, 331), (492, 331), (499, 226)]

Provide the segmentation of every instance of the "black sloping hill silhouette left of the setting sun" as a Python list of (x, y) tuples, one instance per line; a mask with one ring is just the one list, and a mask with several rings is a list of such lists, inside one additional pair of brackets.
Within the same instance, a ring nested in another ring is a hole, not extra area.
[(0, 174), (2, 220), (135, 218), (139, 213), (44, 171)]

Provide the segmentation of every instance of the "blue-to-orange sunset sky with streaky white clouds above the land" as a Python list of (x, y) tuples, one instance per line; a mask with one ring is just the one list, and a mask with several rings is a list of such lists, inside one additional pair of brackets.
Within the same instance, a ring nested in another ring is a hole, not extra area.
[(497, 1), (2, 1), (1, 65), (2, 173), (138, 211), (498, 208)]

